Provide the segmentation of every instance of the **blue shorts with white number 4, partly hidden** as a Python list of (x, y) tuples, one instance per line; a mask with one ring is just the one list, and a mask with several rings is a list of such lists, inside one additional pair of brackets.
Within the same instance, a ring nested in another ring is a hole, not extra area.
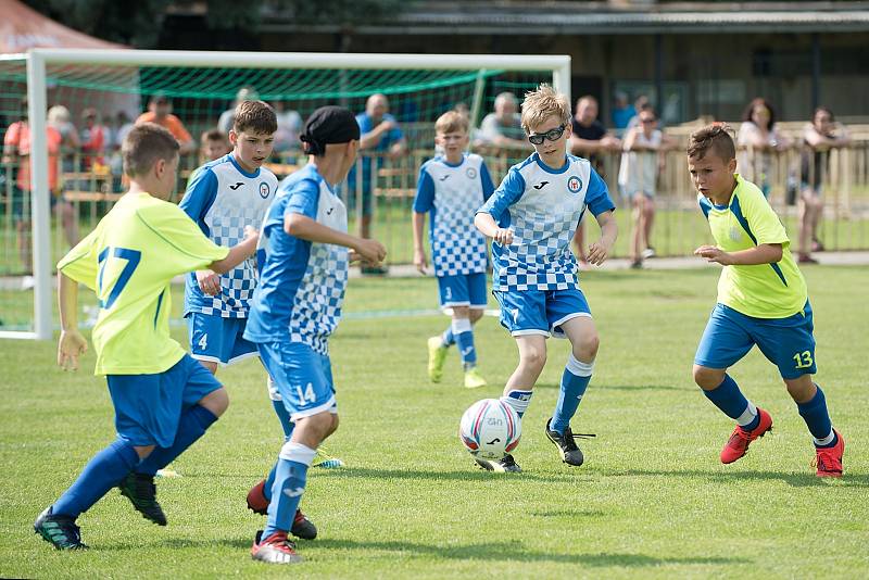
[(243, 337), (247, 324), (247, 318), (224, 318), (191, 312), (187, 316), (187, 328), (193, 358), (231, 365), (256, 356), (256, 344)]

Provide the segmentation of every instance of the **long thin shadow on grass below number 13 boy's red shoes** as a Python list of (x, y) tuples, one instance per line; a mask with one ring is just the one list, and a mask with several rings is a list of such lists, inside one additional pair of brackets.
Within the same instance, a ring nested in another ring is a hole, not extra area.
[(820, 478), (814, 472), (806, 470), (805, 474), (793, 474), (786, 471), (763, 471), (763, 470), (741, 470), (741, 471), (717, 471), (709, 469), (624, 469), (624, 470), (602, 470), (602, 477), (643, 477), (643, 476), (666, 476), (666, 477), (692, 477), (703, 478), (709, 481), (729, 483), (734, 481), (758, 480), (758, 481), (782, 481), (794, 488), (817, 488), (824, 486), (836, 486), (845, 488), (869, 488), (869, 475), (848, 475), (847, 471), (842, 479)]

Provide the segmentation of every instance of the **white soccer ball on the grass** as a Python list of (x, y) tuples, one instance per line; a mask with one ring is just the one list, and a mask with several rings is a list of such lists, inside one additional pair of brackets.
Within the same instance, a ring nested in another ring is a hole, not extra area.
[(500, 459), (519, 444), (519, 415), (498, 399), (477, 401), (462, 415), (458, 437), (475, 457)]

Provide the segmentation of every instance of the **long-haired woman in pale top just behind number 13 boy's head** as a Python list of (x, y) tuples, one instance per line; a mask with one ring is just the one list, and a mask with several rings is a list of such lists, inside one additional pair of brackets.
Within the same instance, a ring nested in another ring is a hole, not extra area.
[(764, 197), (769, 197), (774, 172), (773, 153), (786, 149), (790, 143), (776, 130), (776, 111), (763, 97), (752, 100), (745, 108), (736, 144), (740, 148), (740, 175), (759, 187)]

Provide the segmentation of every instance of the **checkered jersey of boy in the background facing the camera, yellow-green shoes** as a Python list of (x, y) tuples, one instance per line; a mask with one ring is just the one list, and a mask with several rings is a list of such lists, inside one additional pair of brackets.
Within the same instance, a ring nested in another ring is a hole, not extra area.
[(414, 212), (429, 212), (436, 276), (486, 272), (486, 237), (474, 226), (474, 216), (493, 190), (480, 155), (465, 155), (457, 165), (438, 156), (419, 168)]

